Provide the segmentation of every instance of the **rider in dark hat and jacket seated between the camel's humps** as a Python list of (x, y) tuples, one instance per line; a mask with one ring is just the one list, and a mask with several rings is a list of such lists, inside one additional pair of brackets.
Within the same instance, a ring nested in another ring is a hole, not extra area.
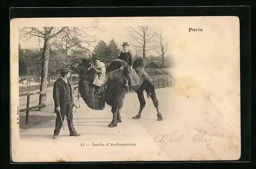
[[(129, 79), (128, 85), (129, 86), (136, 86), (140, 83), (140, 78), (138, 74), (133, 70), (133, 55), (130, 51), (128, 51), (129, 44), (127, 42), (123, 42), (122, 44), (123, 51), (120, 53), (118, 59), (123, 60), (127, 62), (130, 65), (130, 70), (128, 70), (129, 73)], [(124, 81), (125, 87), (127, 87), (126, 81)]]

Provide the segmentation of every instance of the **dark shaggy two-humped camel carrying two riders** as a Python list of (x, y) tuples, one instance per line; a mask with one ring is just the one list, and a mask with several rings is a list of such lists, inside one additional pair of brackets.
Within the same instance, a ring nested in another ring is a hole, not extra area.
[(133, 69), (138, 74), (141, 82), (137, 86), (124, 88), (125, 77), (128, 77), (129, 64), (122, 60), (114, 60), (106, 67), (106, 78), (103, 85), (100, 87), (100, 93), (95, 94), (95, 87), (93, 80), (96, 77), (96, 71), (93, 68), (93, 61), (84, 58), (79, 65), (80, 80), (78, 82), (79, 93), (83, 101), (92, 109), (102, 110), (105, 105), (108, 104), (112, 107), (111, 111), (113, 119), (108, 125), (109, 127), (117, 127), (118, 123), (122, 122), (120, 110), (123, 106), (123, 99), (125, 94), (131, 91), (135, 91), (138, 95), (140, 102), (139, 112), (133, 119), (140, 119), (141, 112), (145, 107), (145, 99), (143, 91), (146, 92), (147, 97), (151, 98), (154, 106), (157, 110), (157, 121), (162, 121), (163, 117), (159, 111), (159, 103), (156, 97), (154, 85), (144, 71), (145, 61), (143, 58), (137, 58), (133, 62)]

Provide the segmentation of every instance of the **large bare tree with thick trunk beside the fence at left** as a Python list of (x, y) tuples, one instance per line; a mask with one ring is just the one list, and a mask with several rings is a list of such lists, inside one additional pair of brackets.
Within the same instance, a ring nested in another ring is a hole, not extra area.
[[(93, 27), (23, 27), (19, 31), (19, 38), (23, 41), (29, 41), (32, 37), (38, 37), (39, 42), (44, 42), (44, 48), (42, 51), (42, 68), (41, 68), (41, 84), (40, 92), (45, 92), (47, 89), (47, 77), (48, 77), (48, 63), (49, 63), (49, 51), (51, 47), (51, 42), (53, 39), (63, 41), (63, 39), (68, 39), (69, 41), (74, 41), (79, 39), (81, 42), (90, 45), (95, 40), (95, 36), (90, 36), (88, 34), (89, 29), (97, 28)], [(90, 40), (83, 40), (83, 38), (90, 38)], [(43, 104), (46, 101), (46, 94), (39, 95), (39, 104)], [(39, 108), (39, 110), (44, 108)]]

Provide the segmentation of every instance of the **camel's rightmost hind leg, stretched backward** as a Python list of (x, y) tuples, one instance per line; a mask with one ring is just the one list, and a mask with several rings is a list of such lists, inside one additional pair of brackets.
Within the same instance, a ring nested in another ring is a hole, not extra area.
[(163, 120), (163, 117), (162, 115), (160, 114), (160, 110), (159, 110), (159, 103), (158, 103), (158, 99), (156, 97), (156, 92), (155, 92), (155, 89), (154, 89), (154, 86), (152, 83), (147, 83), (147, 86), (145, 87), (145, 91), (146, 93), (151, 97), (152, 101), (153, 101), (153, 104), (154, 106), (156, 107), (157, 109), (157, 121), (162, 121)]

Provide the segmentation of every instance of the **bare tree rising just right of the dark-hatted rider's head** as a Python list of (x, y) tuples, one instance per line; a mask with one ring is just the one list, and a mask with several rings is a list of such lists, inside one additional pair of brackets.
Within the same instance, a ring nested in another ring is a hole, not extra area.
[(138, 43), (134, 45), (135, 47), (141, 48), (143, 53), (143, 58), (145, 58), (145, 53), (148, 50), (154, 49), (154, 45), (150, 45), (151, 42), (154, 42), (154, 37), (157, 34), (157, 30), (149, 31), (148, 25), (137, 26), (138, 30), (135, 30), (134, 27), (130, 26), (131, 30), (127, 30), (132, 38)]

